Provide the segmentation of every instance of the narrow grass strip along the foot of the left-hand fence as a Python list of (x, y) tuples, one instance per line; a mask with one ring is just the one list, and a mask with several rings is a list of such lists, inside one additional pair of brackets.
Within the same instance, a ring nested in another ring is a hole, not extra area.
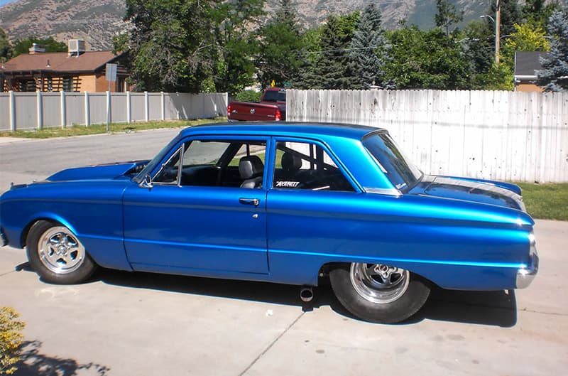
[[(167, 122), (136, 122), (136, 123), (112, 123), (111, 132), (141, 131), (145, 129), (160, 128), (185, 128), (199, 124), (226, 122), (226, 117), (216, 119), (197, 119), (197, 120), (173, 120)], [(50, 137), (82, 136), (84, 134), (104, 134), (107, 133), (107, 124), (96, 124), (89, 127), (84, 125), (73, 125), (66, 128), (45, 128), (41, 130), (31, 129), (26, 131), (0, 131), (0, 137), (23, 137), (26, 139), (48, 139)]]

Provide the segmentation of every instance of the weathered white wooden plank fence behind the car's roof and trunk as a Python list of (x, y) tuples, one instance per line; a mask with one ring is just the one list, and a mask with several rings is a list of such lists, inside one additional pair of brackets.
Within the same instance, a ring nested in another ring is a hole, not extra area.
[(425, 173), (568, 182), (568, 92), (290, 90), (293, 122), (386, 128)]

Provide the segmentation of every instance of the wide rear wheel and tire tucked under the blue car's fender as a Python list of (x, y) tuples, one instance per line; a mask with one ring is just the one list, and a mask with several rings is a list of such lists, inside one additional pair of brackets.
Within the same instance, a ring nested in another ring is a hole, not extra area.
[(386, 264), (339, 264), (329, 272), (339, 302), (354, 316), (398, 323), (413, 316), (430, 295), (430, 283)]

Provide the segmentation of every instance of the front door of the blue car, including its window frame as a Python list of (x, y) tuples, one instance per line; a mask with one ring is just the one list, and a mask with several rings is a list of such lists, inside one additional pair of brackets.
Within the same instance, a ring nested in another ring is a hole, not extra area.
[(263, 162), (267, 143), (234, 137), (183, 140), (151, 173), (151, 188), (127, 188), (124, 244), (133, 269), (267, 273), (266, 189), (262, 184), (241, 188), (246, 179), (239, 174), (244, 157)]

